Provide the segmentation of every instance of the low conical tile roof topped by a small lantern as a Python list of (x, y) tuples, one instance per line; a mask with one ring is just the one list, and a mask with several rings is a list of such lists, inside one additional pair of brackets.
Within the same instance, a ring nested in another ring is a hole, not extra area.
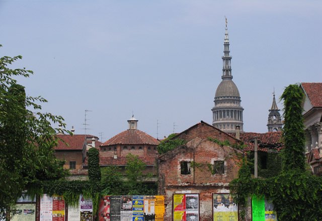
[(150, 135), (139, 130), (126, 130), (112, 137), (101, 146), (116, 144), (148, 144), (158, 145), (160, 142)]

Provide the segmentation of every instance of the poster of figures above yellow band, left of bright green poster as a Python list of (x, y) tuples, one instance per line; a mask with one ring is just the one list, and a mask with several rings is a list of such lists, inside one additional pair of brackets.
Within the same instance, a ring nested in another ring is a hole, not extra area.
[(238, 206), (229, 193), (213, 193), (213, 220), (214, 221), (237, 221)]

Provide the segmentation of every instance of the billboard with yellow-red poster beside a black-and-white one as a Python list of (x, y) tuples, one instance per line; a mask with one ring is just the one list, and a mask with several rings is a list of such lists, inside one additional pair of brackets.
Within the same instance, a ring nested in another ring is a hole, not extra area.
[(198, 221), (199, 220), (199, 194), (173, 195), (173, 220)]

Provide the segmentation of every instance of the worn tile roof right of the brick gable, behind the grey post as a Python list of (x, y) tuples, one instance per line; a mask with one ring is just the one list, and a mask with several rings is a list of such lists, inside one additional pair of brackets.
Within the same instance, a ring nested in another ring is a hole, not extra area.
[[(235, 136), (234, 133), (231, 133)], [(254, 138), (258, 138), (258, 150), (263, 152), (279, 151), (283, 148), (281, 141), (282, 132), (268, 132), (268, 133), (240, 133), (240, 140), (247, 146), (244, 151), (254, 151)]]

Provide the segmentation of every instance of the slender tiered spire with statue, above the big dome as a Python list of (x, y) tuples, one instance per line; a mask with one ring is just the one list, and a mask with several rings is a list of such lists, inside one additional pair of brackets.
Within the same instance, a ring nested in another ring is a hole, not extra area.
[(231, 66), (230, 66), (230, 61), (231, 61), (231, 56), (229, 56), (229, 37), (228, 37), (228, 28), (227, 28), (227, 18), (225, 17), (226, 20), (226, 28), (225, 28), (225, 38), (224, 38), (224, 50), (223, 50), (223, 56), (222, 58), (222, 79), (232, 79), (231, 75)]

